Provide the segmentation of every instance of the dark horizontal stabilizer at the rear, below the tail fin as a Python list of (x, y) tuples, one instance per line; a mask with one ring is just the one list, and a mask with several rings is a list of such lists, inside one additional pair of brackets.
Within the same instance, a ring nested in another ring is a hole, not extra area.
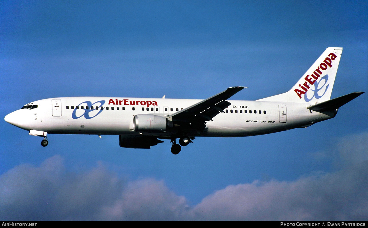
[(313, 111), (332, 111), (332, 110), (336, 110), (337, 108), (340, 108), (344, 104), (346, 104), (349, 101), (355, 99), (356, 97), (362, 95), (363, 93), (365, 93), (365, 92), (349, 93), (347, 95), (337, 97), (337, 98), (332, 99), (332, 100), (324, 101), (322, 103), (315, 104), (315, 105), (309, 106), (307, 108), (310, 109), (310, 110), (313, 110)]

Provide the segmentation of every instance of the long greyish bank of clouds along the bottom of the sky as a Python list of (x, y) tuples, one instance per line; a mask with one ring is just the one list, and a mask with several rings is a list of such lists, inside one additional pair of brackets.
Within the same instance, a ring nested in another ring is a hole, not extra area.
[(70, 173), (56, 155), (0, 176), (0, 220), (367, 220), (367, 142), (341, 140), (339, 171), (230, 185), (194, 207), (164, 181), (122, 181), (101, 164)]

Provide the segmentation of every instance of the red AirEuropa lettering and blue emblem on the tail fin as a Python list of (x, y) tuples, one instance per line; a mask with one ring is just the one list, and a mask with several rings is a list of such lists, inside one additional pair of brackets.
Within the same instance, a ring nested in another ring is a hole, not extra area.
[[(327, 80), (328, 80), (328, 75), (323, 76), (319, 80), (319, 82), (316, 81), (316, 80), (318, 80), (318, 78), (322, 76), (322, 74), (323, 74), (322, 71), (325, 71), (329, 67), (332, 67), (332, 61), (337, 58), (337, 56), (333, 53), (330, 53), (328, 56), (329, 57), (326, 57), (325, 60), (323, 60), (322, 63), (319, 64), (319, 66), (316, 68), (316, 70), (311, 75), (308, 74), (304, 78), (305, 82), (303, 83), (303, 85), (299, 84), (299, 87), (302, 90), (300, 90), (300, 89), (295, 89), (294, 90), (295, 93), (299, 96), (299, 98), (301, 98), (301, 96), (304, 94), (304, 100), (308, 102), (308, 101), (311, 101), (313, 99), (313, 97), (316, 97), (318, 99), (318, 98), (321, 98), (326, 93), (328, 85), (326, 86), (325, 92), (321, 96), (318, 95), (318, 91), (321, 90), (324, 87), (324, 85), (326, 85)], [(325, 83), (323, 84), (323, 86), (321, 86), (321, 88), (318, 88), (318, 84), (320, 84), (323, 79), (325, 79), (325, 81), (324, 81)], [(315, 89), (311, 89), (311, 85), (314, 85)], [(314, 95), (312, 96), (311, 99), (308, 99), (308, 97), (305, 95), (305, 93), (309, 89), (314, 91)]]

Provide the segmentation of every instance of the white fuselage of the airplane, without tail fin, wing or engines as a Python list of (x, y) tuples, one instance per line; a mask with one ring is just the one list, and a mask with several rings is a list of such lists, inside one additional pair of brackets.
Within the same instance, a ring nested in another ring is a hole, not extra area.
[[(33, 101), (31, 105), (37, 105), (37, 108), (23, 108), (14, 111), (8, 114), (5, 119), (22, 129), (47, 133), (97, 135), (138, 135), (140, 133), (141, 135), (165, 138), (169, 137), (172, 132), (135, 132), (133, 130), (134, 115), (155, 114), (170, 118), (171, 114), (199, 101), (201, 100), (59, 97)], [(308, 127), (315, 122), (327, 120), (336, 115), (336, 111), (319, 113), (308, 110), (307, 107), (310, 104), (228, 101), (231, 105), (224, 110), (224, 113), (217, 114), (213, 121), (207, 121), (204, 131), (191, 132), (188, 136), (262, 135), (298, 127)]]

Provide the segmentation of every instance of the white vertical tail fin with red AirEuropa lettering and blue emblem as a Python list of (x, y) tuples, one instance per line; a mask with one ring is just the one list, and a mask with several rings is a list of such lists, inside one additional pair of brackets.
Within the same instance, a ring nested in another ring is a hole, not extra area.
[(331, 97), (342, 47), (328, 47), (288, 92), (259, 99), (316, 104)]

